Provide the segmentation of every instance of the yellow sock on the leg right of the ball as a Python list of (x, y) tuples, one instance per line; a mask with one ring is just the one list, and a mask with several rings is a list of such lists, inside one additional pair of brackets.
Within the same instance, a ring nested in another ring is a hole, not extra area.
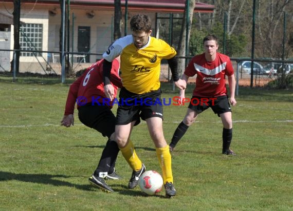
[(163, 173), (163, 182), (172, 182), (173, 183), (173, 175), (172, 175), (172, 167), (171, 167), (171, 154), (169, 151), (169, 145), (156, 148), (157, 157), (162, 169)]

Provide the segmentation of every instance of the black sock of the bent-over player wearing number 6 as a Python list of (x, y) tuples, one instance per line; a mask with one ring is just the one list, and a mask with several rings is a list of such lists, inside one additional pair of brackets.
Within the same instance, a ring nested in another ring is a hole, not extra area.
[(108, 174), (112, 174), (114, 172), (118, 153), (119, 147), (117, 143), (115, 141), (108, 140), (94, 175), (99, 176), (100, 172), (107, 172)]

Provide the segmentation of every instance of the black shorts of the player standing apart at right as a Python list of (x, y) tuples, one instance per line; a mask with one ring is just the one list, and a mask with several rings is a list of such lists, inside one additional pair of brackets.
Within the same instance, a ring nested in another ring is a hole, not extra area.
[(210, 98), (192, 96), (188, 108), (198, 114), (211, 108), (218, 116), (226, 112), (232, 112), (227, 95)]

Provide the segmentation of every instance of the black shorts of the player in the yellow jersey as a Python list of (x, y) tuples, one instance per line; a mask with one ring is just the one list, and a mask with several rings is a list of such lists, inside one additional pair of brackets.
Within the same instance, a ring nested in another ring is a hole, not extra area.
[(136, 121), (135, 125), (137, 125), (140, 123), (140, 118), (142, 120), (151, 117), (163, 119), (161, 102), (160, 89), (145, 94), (135, 94), (122, 88), (119, 93), (116, 124), (124, 125)]

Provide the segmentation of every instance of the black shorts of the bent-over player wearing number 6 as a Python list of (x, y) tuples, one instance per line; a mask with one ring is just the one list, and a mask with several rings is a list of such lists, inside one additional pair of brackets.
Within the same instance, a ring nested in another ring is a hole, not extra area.
[(107, 106), (87, 103), (78, 109), (78, 118), (84, 125), (108, 138), (115, 132), (116, 117)]

